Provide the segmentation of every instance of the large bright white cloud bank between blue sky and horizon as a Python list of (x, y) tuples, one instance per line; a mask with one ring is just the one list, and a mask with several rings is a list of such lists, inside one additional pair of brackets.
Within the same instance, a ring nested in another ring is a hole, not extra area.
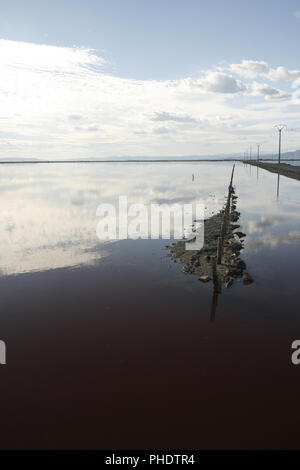
[[(269, 133), (274, 120), (284, 119), (295, 127), (298, 117), (295, 111), (285, 112), (286, 91), (249, 82), (250, 69), (252, 76), (267, 70), (266, 63), (249, 62), (242, 72), (239, 68), (247, 83), (234, 77), (237, 64), (229, 66), (229, 72), (203, 71), (198, 78), (123, 79), (105, 72), (105, 61), (90, 49), (2, 39), (1, 156), (49, 159), (239, 151), (243, 139), (256, 141)], [(282, 74), (282, 69), (272, 70)]]

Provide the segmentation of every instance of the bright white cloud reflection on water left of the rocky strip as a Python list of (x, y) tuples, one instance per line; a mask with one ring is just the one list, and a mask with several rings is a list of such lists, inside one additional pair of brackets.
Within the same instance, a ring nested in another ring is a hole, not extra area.
[[(216, 181), (191, 187), (190, 166), (60, 164), (3, 166), (1, 183), (0, 273), (18, 274), (93, 265), (111, 252), (112, 243), (96, 236), (100, 203), (206, 202)], [(183, 170), (183, 171), (182, 171)], [(204, 169), (204, 174), (209, 167)], [(222, 178), (221, 171), (219, 179)]]

